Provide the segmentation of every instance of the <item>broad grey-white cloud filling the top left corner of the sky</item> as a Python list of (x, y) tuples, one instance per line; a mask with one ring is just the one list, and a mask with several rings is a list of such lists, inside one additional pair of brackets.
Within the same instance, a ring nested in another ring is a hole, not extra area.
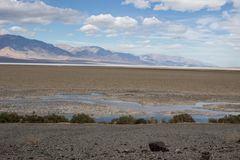
[(58, 8), (38, 1), (2, 0), (0, 1), (0, 24), (37, 23), (48, 24), (53, 21), (77, 23), (80, 13), (70, 8)]

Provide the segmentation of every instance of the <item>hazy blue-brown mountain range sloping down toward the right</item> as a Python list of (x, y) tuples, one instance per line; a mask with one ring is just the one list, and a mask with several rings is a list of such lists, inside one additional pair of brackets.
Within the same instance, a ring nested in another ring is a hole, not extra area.
[(0, 35), (0, 62), (9, 63), (71, 63), (127, 64), (155, 66), (211, 67), (197, 60), (178, 56), (110, 51), (98, 46), (72, 47), (53, 45), (18, 35)]

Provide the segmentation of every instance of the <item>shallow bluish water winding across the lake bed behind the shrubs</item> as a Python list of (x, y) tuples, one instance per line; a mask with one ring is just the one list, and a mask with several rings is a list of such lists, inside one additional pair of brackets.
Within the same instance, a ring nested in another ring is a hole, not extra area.
[[(104, 94), (101, 93), (89, 93), (89, 94), (67, 94), (61, 93), (53, 96), (41, 96), (41, 97), (24, 97), (16, 99), (0, 100), (0, 104), (12, 104), (12, 105), (36, 105), (48, 104), (48, 103), (79, 103), (98, 106), (110, 106), (113, 109), (129, 110), (144, 113), (136, 115), (135, 117), (151, 118), (154, 117), (158, 120), (169, 120), (175, 113), (186, 112), (193, 116), (196, 122), (207, 122), (208, 118), (220, 118), (225, 115), (238, 115), (240, 112), (227, 112), (222, 110), (210, 110), (205, 105), (219, 105), (219, 104), (236, 104), (236, 103), (224, 103), (224, 102), (198, 102), (193, 105), (143, 105), (137, 102), (129, 102), (122, 100), (107, 99)], [(239, 103), (237, 104), (239, 105)], [(94, 110), (94, 109), (93, 109)], [(65, 116), (70, 118), (74, 113), (68, 113)], [(131, 114), (131, 113), (129, 113)], [(118, 117), (118, 113), (111, 115), (102, 115), (96, 117), (97, 121), (111, 121), (112, 118)]]

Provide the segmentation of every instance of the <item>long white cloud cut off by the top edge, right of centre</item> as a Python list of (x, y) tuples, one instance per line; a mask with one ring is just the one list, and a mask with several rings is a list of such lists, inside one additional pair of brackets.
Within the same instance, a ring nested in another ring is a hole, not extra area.
[(219, 10), (227, 3), (232, 3), (234, 8), (240, 8), (239, 0), (124, 0), (122, 4), (133, 4), (136, 8), (175, 11), (199, 11), (201, 9)]

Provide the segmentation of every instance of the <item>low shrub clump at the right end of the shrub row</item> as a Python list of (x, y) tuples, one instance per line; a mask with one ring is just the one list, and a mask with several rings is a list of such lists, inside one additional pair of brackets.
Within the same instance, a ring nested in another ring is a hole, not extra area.
[(209, 119), (209, 123), (240, 123), (240, 114), (239, 115), (228, 115), (219, 119)]

